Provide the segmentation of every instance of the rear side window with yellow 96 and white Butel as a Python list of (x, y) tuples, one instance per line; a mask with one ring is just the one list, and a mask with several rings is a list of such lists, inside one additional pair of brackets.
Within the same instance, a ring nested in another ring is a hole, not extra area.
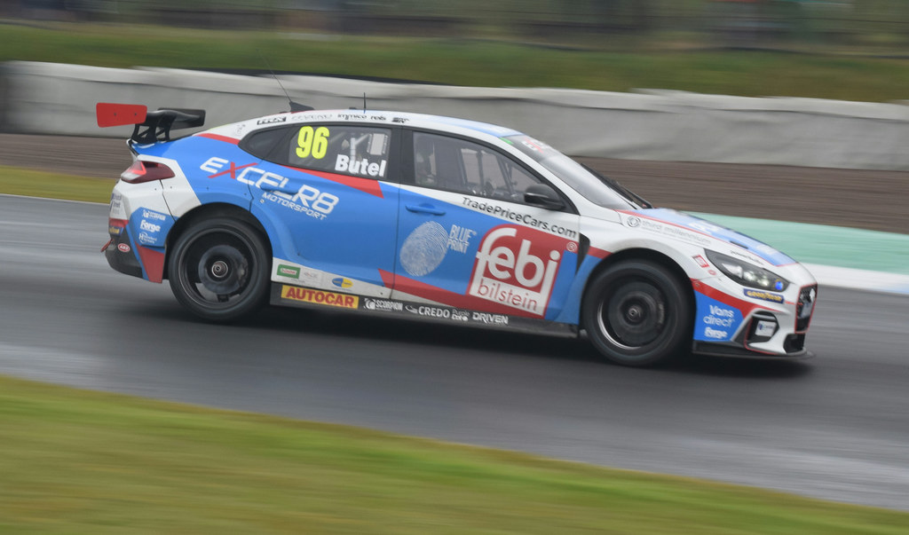
[(355, 124), (303, 124), (288, 140), (294, 167), (382, 180), (388, 173), (391, 130)]

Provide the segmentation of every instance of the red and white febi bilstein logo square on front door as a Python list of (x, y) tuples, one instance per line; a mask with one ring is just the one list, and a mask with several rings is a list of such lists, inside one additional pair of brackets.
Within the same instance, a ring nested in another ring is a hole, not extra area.
[(476, 252), (467, 293), (542, 317), (569, 243), (523, 227), (496, 227)]

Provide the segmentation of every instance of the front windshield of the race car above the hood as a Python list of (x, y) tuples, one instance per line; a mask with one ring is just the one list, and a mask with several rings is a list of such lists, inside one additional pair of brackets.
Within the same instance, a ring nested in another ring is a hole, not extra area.
[(606, 178), (593, 169), (575, 162), (568, 156), (556, 151), (553, 147), (537, 141), (529, 135), (509, 135), (502, 140), (511, 144), (534, 161), (543, 165), (575, 192), (584, 195), (591, 203), (614, 210), (638, 210), (650, 208), (641, 197), (631, 193), (621, 184)]

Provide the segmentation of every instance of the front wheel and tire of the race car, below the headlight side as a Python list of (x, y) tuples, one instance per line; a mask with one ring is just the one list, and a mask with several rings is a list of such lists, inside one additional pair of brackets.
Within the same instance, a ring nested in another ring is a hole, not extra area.
[(597, 351), (624, 366), (667, 362), (691, 341), (691, 292), (659, 263), (624, 261), (599, 273), (581, 313)]

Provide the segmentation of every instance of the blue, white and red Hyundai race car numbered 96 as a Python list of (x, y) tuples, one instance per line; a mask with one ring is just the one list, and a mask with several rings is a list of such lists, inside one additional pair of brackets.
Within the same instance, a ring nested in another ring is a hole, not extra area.
[(817, 284), (741, 233), (656, 208), (511, 128), (393, 111), (281, 113), (171, 139), (134, 124), (105, 257), (231, 322), (266, 303), (586, 337), (629, 366), (795, 359)]

